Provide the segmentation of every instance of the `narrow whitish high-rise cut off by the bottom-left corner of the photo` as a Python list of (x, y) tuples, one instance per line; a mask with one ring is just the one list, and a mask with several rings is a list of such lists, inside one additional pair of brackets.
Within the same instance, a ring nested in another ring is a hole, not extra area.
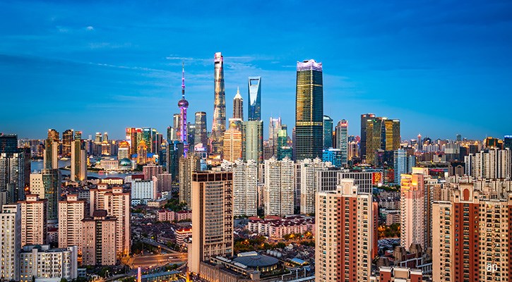
[(19, 204), (4, 204), (0, 213), (0, 277), (20, 280), (21, 209)]

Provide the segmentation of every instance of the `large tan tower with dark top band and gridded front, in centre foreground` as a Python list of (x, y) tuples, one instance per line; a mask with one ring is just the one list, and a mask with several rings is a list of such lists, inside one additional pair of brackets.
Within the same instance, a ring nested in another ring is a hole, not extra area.
[(233, 255), (233, 174), (203, 171), (192, 174), (192, 244), (189, 271), (209, 257)]

